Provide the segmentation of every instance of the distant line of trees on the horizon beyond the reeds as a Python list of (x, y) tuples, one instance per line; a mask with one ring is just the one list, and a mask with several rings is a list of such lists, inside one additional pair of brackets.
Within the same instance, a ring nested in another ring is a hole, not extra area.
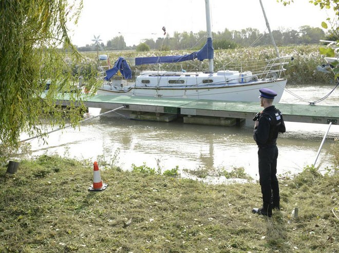
[[(324, 28), (324, 25), (322, 25)], [(306, 29), (305, 29), (306, 28)], [(154, 41), (153, 38), (144, 39), (144, 44), (148, 45), (150, 49), (159, 51), (171, 50), (200, 50), (201, 41), (205, 41), (202, 37), (204, 31), (198, 33), (174, 32), (172, 36), (165, 38), (158, 38)], [(299, 45), (299, 44), (314, 44), (318, 43), (319, 39), (326, 39), (323, 29), (319, 27), (304, 26), (302, 29), (291, 30), (273, 30), (272, 35), (279, 46)], [(238, 47), (250, 46), (272, 46), (272, 40), (268, 33), (260, 33), (258, 29), (246, 28), (240, 31), (225, 29), (223, 32), (213, 33), (213, 45), (215, 49), (230, 49)], [(232, 42), (230, 42), (232, 41)], [(255, 44), (254, 44), (255, 43)], [(107, 41), (106, 46), (101, 43), (99, 50), (134, 50), (137, 46), (126, 46), (124, 37), (122, 35), (114, 37)], [(86, 47), (79, 47), (79, 51), (88, 52), (96, 50), (95, 45), (86, 45)], [(119, 52), (120, 52), (119, 51)], [(120, 52), (121, 53), (121, 52)]]

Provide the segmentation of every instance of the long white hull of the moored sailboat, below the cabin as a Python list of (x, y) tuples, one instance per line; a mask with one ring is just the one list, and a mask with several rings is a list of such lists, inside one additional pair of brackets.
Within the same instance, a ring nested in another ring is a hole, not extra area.
[(222, 101), (258, 101), (259, 89), (268, 88), (274, 90), (278, 95), (274, 101), (279, 102), (284, 93), (286, 79), (267, 79), (238, 83), (236, 85), (211, 85), (204, 87), (135, 87), (126, 86), (120, 89), (99, 88), (100, 95), (125, 95), (140, 97), (162, 97), (162, 98), (187, 98), (187, 99), (209, 99)]

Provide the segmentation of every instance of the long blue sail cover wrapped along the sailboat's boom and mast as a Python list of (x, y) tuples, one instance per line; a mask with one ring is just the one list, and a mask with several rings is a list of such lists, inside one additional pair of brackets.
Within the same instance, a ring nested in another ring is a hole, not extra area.
[(177, 63), (180, 61), (213, 59), (214, 49), (212, 38), (207, 38), (206, 44), (199, 51), (185, 55), (172, 55), (172, 56), (153, 56), (153, 57), (136, 57), (136, 65), (143, 64), (163, 64), (163, 63)]

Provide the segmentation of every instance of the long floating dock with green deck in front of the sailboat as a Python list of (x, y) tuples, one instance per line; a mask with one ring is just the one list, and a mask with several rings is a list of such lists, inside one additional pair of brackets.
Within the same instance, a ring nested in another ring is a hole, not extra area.
[[(58, 104), (69, 105), (69, 95), (64, 94)], [(183, 117), (184, 123), (232, 125), (239, 120), (253, 119), (262, 110), (258, 102), (233, 102), (187, 98), (150, 98), (123, 95), (84, 96), (86, 107), (130, 111), (132, 118), (171, 121)], [(318, 106), (308, 104), (275, 104), (285, 121), (337, 124), (339, 106)]]

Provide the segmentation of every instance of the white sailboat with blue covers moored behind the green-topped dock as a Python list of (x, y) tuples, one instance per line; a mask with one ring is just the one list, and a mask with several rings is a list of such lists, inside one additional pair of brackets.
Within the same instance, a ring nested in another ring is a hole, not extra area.
[[(287, 82), (287, 79), (281, 78), (280, 75), (285, 71), (284, 65), (288, 63), (286, 59), (290, 56), (271, 59), (260, 73), (236, 70), (214, 72), (209, 0), (205, 0), (205, 9), (208, 39), (201, 50), (181, 56), (139, 57), (135, 59), (135, 65), (208, 59), (208, 72), (144, 71), (136, 77), (135, 82), (128, 82), (131, 70), (127, 61), (120, 57), (115, 66), (106, 71), (106, 81), (97, 94), (255, 102), (258, 100), (259, 89), (269, 88), (278, 94), (275, 101), (279, 102)], [(112, 78), (118, 71), (125, 80)]]

